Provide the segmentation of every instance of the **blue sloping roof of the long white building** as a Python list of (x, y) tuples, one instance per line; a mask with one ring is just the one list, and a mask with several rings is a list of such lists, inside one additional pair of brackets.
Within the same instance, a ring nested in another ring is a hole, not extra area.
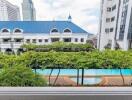
[(70, 21), (0, 21), (0, 30), (3, 28), (11, 31), (20, 28), (23, 29), (24, 33), (50, 33), (53, 28), (63, 33), (64, 29), (68, 28), (72, 30), (72, 33), (88, 34), (88, 32)]

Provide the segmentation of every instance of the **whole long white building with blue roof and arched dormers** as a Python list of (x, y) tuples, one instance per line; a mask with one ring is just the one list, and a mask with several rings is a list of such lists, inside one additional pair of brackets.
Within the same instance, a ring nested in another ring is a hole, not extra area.
[(0, 49), (17, 52), (21, 45), (57, 41), (86, 43), (89, 33), (71, 21), (1, 21)]

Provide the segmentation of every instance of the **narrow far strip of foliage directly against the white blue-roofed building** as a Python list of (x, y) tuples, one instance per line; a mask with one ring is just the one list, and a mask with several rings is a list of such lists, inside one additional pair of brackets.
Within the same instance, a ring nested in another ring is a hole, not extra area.
[(79, 51), (93, 51), (95, 48), (90, 44), (73, 44), (73, 43), (64, 43), (64, 42), (55, 42), (49, 45), (35, 45), (27, 44), (23, 45), (22, 48), (25, 48), (27, 51), (64, 51), (64, 52), (79, 52)]

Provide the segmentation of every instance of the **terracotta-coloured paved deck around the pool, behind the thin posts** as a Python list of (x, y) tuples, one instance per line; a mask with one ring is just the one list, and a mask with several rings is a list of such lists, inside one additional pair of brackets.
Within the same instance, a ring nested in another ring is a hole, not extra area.
[[(73, 77), (73, 76), (72, 76)], [(87, 78), (90, 76), (87, 76)], [(95, 76), (91, 76), (95, 77)], [(102, 82), (99, 84), (99, 86), (124, 86), (123, 80), (121, 76), (98, 76), (102, 78)], [(46, 76), (47, 81), (49, 80), (49, 77)], [(51, 84), (53, 85), (55, 82), (56, 77), (51, 77)], [(132, 76), (124, 76), (125, 80), (125, 86), (131, 86), (132, 85)], [(76, 82), (71, 80), (68, 76), (59, 76), (59, 78), (56, 81), (56, 86), (77, 86)]]

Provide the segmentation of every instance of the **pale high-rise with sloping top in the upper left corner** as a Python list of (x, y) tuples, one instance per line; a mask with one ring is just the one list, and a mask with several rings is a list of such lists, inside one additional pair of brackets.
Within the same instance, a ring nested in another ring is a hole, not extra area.
[(0, 0), (0, 21), (20, 20), (19, 7), (6, 0)]

